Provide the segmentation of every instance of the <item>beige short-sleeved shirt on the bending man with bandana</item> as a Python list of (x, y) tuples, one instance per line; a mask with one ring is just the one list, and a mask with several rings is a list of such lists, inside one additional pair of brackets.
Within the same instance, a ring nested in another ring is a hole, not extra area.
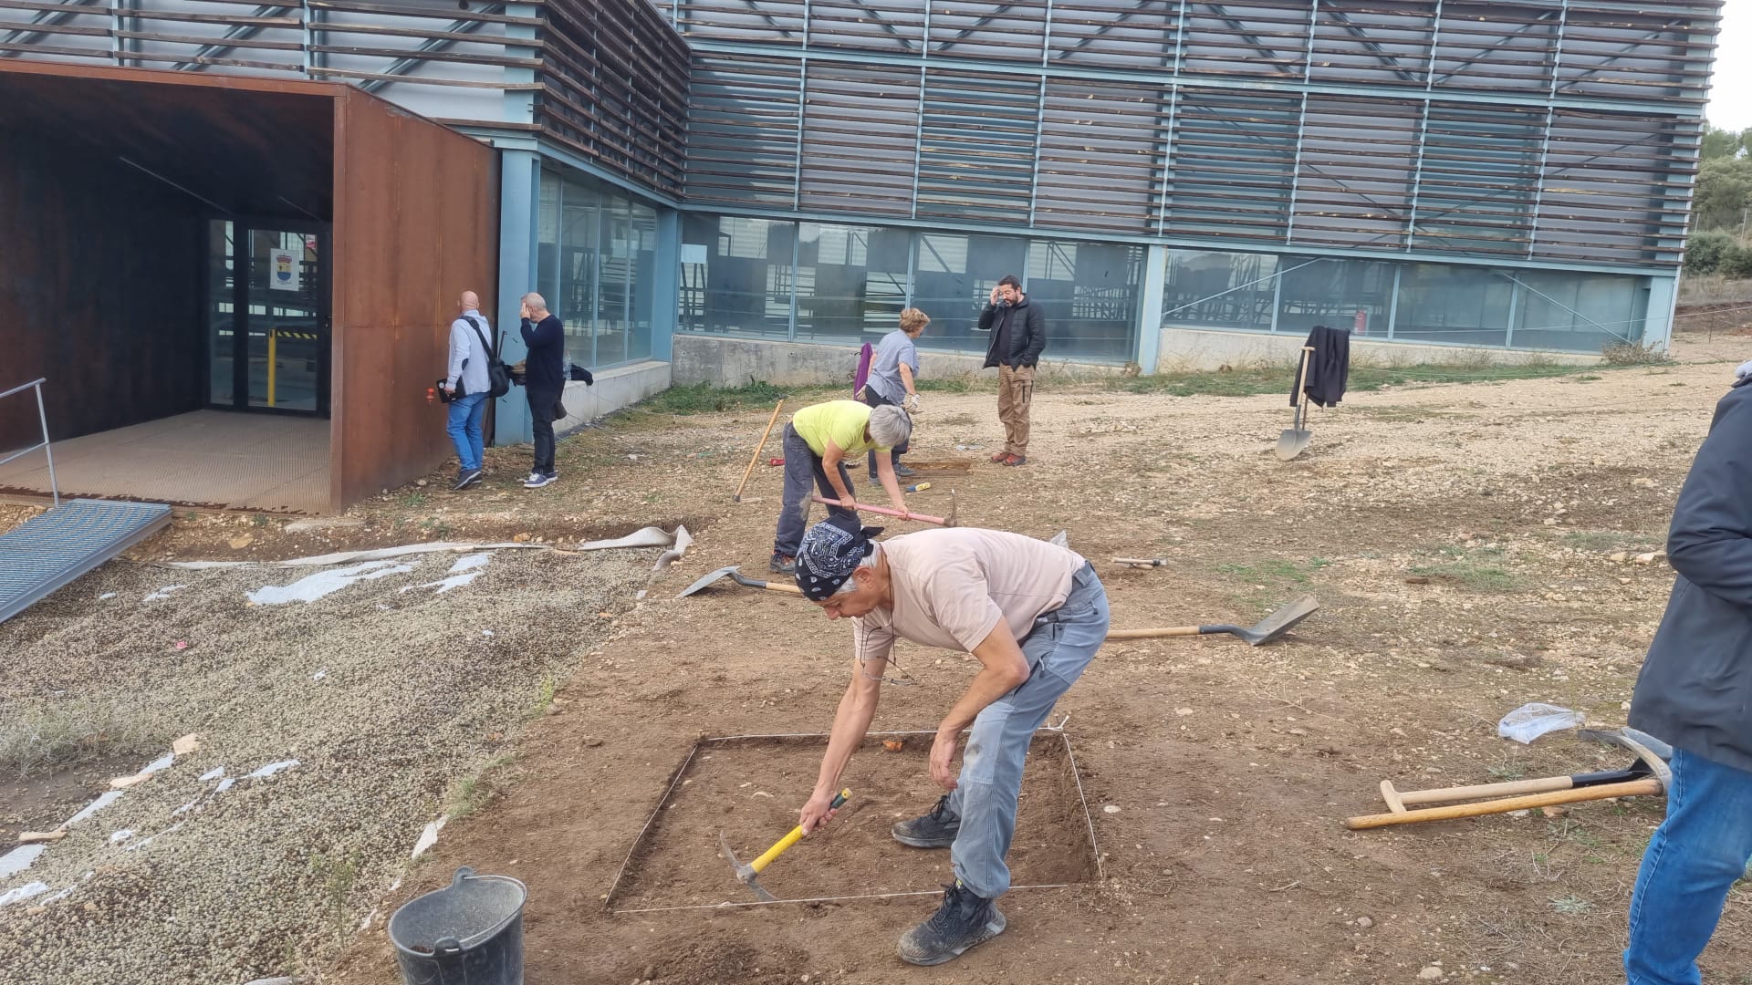
[(1086, 563), (1063, 547), (1000, 529), (925, 529), (885, 540), (894, 606), (851, 620), (860, 661), (911, 640), (972, 652), (999, 620), (1021, 640), (1044, 612), (1065, 605)]

